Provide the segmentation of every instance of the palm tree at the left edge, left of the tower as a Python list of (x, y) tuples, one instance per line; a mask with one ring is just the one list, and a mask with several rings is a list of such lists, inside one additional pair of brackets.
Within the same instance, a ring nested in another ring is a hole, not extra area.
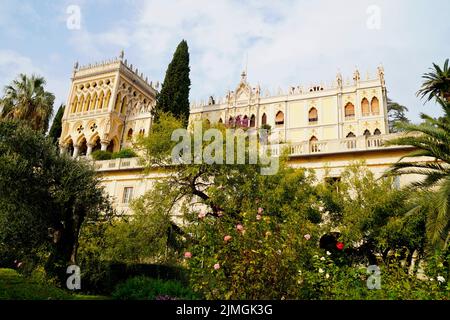
[(0, 117), (25, 120), (34, 130), (47, 131), (55, 96), (45, 91), (45, 84), (42, 77), (20, 74), (5, 87), (5, 95), (0, 99)]

